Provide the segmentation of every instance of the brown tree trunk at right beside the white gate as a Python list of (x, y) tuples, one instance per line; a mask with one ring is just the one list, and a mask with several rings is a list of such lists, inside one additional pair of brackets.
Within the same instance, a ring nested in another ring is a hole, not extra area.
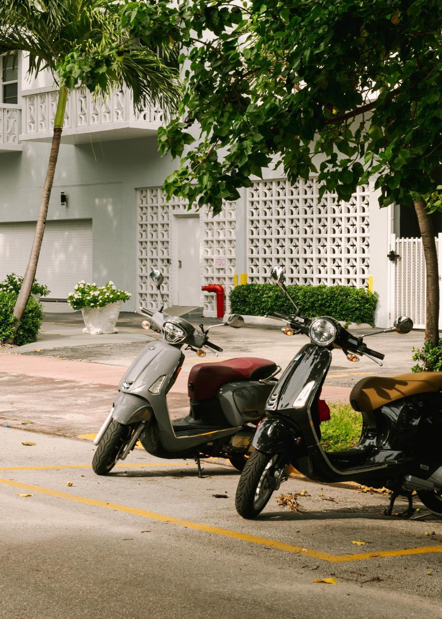
[[(439, 270), (435, 232), (427, 204), (421, 197), (414, 201), (414, 207), (422, 236), (423, 255), (427, 272), (427, 316), (425, 318), (425, 342), (436, 345), (439, 341)], [(442, 251), (442, 248), (440, 248)], [(412, 282), (413, 284), (413, 282)]]

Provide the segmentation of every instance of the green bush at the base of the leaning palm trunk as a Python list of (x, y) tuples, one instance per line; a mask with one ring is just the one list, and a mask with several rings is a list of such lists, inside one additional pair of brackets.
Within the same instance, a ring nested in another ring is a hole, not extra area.
[[(14, 334), (12, 328), (15, 301), (15, 292), (0, 290), (0, 342), (4, 342)], [(20, 321), (19, 330), (15, 335), (14, 344), (22, 346), (37, 340), (40, 331), (41, 321), (43, 320), (43, 308), (33, 297), (30, 297), (26, 306), (23, 318)]]

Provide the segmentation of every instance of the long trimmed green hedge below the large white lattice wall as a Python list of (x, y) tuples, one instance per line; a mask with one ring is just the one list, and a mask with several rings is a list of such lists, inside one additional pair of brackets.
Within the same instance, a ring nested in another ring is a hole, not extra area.
[[(345, 322), (368, 322), (374, 326), (376, 292), (351, 286), (287, 286), (303, 316), (332, 316)], [(264, 316), (272, 311), (293, 313), (293, 305), (274, 284), (243, 284), (230, 292), (235, 314)]]

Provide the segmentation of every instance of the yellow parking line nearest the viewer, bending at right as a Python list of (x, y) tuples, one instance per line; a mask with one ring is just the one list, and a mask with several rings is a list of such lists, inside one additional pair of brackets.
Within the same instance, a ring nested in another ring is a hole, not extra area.
[(7, 486), (12, 486), (14, 488), (23, 488), (24, 490), (39, 492), (43, 495), (56, 496), (58, 498), (66, 499), (67, 501), (75, 501), (76, 503), (84, 503), (86, 505), (93, 505), (95, 507), (113, 509), (113, 511), (121, 511), (126, 514), (133, 514), (134, 516), (141, 516), (143, 518), (149, 518), (151, 520), (176, 524), (180, 527), (186, 527), (186, 529), (195, 529), (199, 531), (205, 531), (207, 533), (213, 533), (215, 535), (223, 535), (224, 537), (232, 537), (233, 539), (243, 540), (244, 542), (256, 543), (261, 546), (277, 548), (278, 550), (285, 550), (285, 552), (292, 552), (300, 555), (310, 556), (323, 561), (331, 561), (332, 563), (343, 563), (344, 561), (361, 561), (365, 559), (380, 558), (383, 556), (422, 555), (425, 553), (442, 552), (442, 546), (423, 546), (421, 548), (405, 548), (404, 550), (383, 550), (381, 552), (357, 553), (355, 555), (331, 555), (329, 553), (320, 552), (311, 548), (301, 548), (300, 546), (293, 546), (288, 543), (277, 542), (276, 540), (267, 539), (266, 537), (257, 537), (256, 535), (249, 535), (247, 533), (241, 533), (239, 531), (234, 531), (230, 529), (220, 529), (219, 527), (210, 526), (210, 524), (199, 524), (198, 522), (191, 522), (183, 520), (181, 518), (175, 518), (174, 516), (157, 514), (154, 511), (146, 511), (145, 509), (137, 509), (133, 507), (128, 507), (126, 505), (120, 505), (119, 503), (107, 503), (106, 501), (90, 499), (86, 496), (72, 495), (70, 493), (68, 494), (67, 492), (59, 492), (58, 490), (40, 488), (39, 486), (32, 486), (27, 483), (12, 482), (8, 479), (0, 479), (0, 483), (3, 483)]

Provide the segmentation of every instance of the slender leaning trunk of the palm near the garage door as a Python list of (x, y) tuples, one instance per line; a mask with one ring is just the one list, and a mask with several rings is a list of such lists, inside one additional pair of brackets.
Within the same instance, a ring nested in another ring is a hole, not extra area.
[[(57, 165), (60, 148), (61, 132), (63, 131), (64, 114), (66, 112), (67, 89), (62, 87), (58, 93), (57, 111), (54, 119), (54, 134), (52, 137), (51, 153), (49, 155), (48, 169), (46, 171), (43, 194), (41, 196), (40, 211), (38, 212), (37, 227), (35, 228), (34, 240), (28, 260), (28, 266), (20, 288), (19, 296), (14, 306), (14, 336), (19, 328), (20, 320), (24, 314), (30, 297), (35, 272), (37, 271), (38, 258), (40, 256), (41, 241), (45, 233), (46, 216), (48, 215), (49, 199), (51, 197), (54, 173)], [(9, 341), (12, 344), (11, 341)]]

